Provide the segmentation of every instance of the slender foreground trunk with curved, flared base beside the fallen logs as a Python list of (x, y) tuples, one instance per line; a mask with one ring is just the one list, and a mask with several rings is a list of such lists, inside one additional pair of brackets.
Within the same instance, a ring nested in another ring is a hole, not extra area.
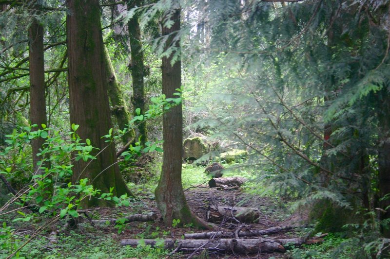
[[(165, 48), (171, 44), (179, 47), (179, 42), (173, 43), (175, 32), (180, 30), (180, 10), (176, 10), (171, 19), (174, 25), (168, 29), (163, 25), (163, 35), (170, 35)], [(164, 20), (164, 19), (163, 19)], [(175, 98), (173, 93), (181, 86), (181, 62), (172, 66), (171, 61), (174, 53), (169, 58), (163, 57), (162, 70), (162, 93), (167, 98)], [(193, 223), (207, 227), (205, 222), (198, 219), (188, 207), (181, 183), (181, 164), (183, 148), (183, 116), (181, 104), (177, 105), (163, 115), (163, 138), (164, 155), (162, 173), (156, 188), (156, 202), (165, 224), (171, 225), (174, 219), (179, 219), (180, 224)]]

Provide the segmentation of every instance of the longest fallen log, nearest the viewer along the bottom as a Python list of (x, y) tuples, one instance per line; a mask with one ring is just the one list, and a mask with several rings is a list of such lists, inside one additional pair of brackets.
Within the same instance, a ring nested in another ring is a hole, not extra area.
[[(287, 242), (288, 241), (288, 242)], [(285, 252), (283, 244), (295, 244), (301, 245), (305, 239), (215, 239), (215, 240), (204, 240), (204, 239), (165, 239), (163, 242), (164, 249), (172, 250), (175, 245), (179, 248), (177, 252), (193, 252), (195, 250), (207, 249), (212, 252), (219, 253), (239, 253), (239, 254), (256, 254), (259, 252)], [(141, 242), (139, 239), (122, 239), (121, 245), (132, 245), (137, 246)], [(145, 245), (156, 245), (156, 240), (144, 239), (142, 243)]]

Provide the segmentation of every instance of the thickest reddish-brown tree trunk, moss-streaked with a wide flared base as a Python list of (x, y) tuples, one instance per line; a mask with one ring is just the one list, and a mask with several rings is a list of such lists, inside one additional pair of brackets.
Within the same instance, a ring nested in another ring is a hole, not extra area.
[[(79, 125), (77, 133), (83, 141), (89, 138), (91, 145), (99, 149), (92, 155), (101, 152), (88, 166), (82, 159), (74, 162), (72, 181), (75, 183), (88, 177), (102, 192), (109, 192), (114, 187), (114, 195), (131, 195), (119, 173), (114, 145), (101, 138), (108, 134), (112, 125), (99, 1), (68, 0), (67, 7), (70, 11), (66, 17), (70, 121)], [(91, 199), (83, 205), (110, 204)]]

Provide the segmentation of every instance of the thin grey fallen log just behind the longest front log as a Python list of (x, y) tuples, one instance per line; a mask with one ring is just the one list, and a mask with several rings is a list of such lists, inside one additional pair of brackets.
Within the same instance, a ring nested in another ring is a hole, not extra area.
[[(290, 230), (292, 227), (284, 226), (284, 227), (271, 227), (264, 230), (251, 230), (251, 231), (240, 231), (238, 232), (238, 237), (254, 237), (260, 235), (274, 234), (279, 233), (281, 231)], [(186, 239), (210, 239), (210, 238), (234, 238), (234, 232), (226, 232), (226, 231), (216, 231), (216, 232), (202, 232), (202, 233), (186, 233), (184, 234), (184, 238)]]

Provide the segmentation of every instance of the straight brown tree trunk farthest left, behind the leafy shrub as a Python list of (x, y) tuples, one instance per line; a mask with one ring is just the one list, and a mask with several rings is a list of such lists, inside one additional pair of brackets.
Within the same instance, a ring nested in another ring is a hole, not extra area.
[[(33, 4), (32, 15), (38, 15), (39, 6)], [(30, 69), (30, 121), (38, 124), (33, 130), (41, 129), (41, 124), (47, 123), (46, 117), (46, 95), (45, 95), (45, 70), (43, 64), (43, 26), (33, 17), (32, 24), (28, 30), (29, 34), (29, 69)], [(34, 138), (31, 141), (34, 172), (42, 174), (37, 164), (41, 157), (37, 156), (42, 148), (45, 139)]]

